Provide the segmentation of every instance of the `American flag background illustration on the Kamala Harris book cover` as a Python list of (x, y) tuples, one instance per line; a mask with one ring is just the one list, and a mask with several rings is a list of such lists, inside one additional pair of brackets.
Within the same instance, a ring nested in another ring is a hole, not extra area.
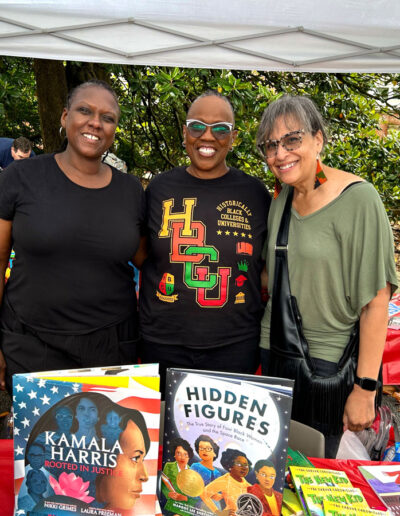
[[(143, 482), (140, 498), (132, 510), (115, 512), (115, 514), (154, 516), (156, 514), (156, 483), (159, 452), (160, 394), (151, 388), (138, 385), (134, 388), (90, 385), (82, 377), (82, 383), (47, 380), (34, 375), (15, 375), (13, 379), (13, 411), (14, 411), (14, 481), (15, 481), (15, 515), (29, 513), (19, 508), (18, 494), (26, 474), (26, 451), (30, 437), (35, 435), (35, 425), (57, 403), (79, 393), (98, 393), (116, 403), (120, 407), (136, 409), (141, 412), (150, 437), (150, 446), (144, 458), (148, 481)], [(39, 423), (40, 426), (40, 423)], [(29, 466), (28, 466), (29, 467)], [(67, 474), (70, 471), (66, 471)], [(79, 473), (77, 473), (78, 475)], [(26, 489), (26, 488), (25, 488)], [(90, 503), (89, 503), (90, 505)], [(108, 509), (107, 509), (108, 511)], [(45, 510), (43, 513), (51, 514)], [(61, 512), (57, 512), (61, 514)], [(67, 512), (65, 514), (68, 514)], [(81, 514), (79, 509), (76, 514)], [(96, 513), (94, 513), (96, 514)], [(99, 509), (101, 514), (101, 509)], [(108, 512), (107, 512), (108, 514)], [(111, 513), (112, 514), (112, 511)]]

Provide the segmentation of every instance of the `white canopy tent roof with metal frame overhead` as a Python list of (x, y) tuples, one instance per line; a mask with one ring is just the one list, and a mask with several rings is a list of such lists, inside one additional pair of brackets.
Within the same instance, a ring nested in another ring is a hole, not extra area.
[(399, 0), (0, 0), (0, 55), (399, 72)]

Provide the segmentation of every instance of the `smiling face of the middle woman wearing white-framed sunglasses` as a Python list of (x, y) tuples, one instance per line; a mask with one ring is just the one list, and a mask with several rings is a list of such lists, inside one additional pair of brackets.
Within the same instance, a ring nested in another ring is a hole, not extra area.
[[(233, 123), (233, 114), (229, 104), (217, 96), (201, 97), (196, 100), (187, 114), (188, 119), (195, 119), (207, 124), (216, 122)], [(225, 163), (236, 131), (229, 133), (226, 138), (217, 139), (207, 127), (204, 134), (195, 138), (190, 135), (186, 126), (183, 127), (183, 141), (190, 158), (188, 172), (201, 179), (214, 179), (228, 171)]]

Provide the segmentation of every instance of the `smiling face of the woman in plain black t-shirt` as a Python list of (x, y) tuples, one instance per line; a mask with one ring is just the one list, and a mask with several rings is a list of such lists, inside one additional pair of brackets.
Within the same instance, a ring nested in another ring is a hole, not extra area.
[(119, 118), (112, 94), (99, 86), (78, 89), (69, 108), (64, 108), (64, 127), (69, 152), (86, 159), (98, 159), (111, 147)]

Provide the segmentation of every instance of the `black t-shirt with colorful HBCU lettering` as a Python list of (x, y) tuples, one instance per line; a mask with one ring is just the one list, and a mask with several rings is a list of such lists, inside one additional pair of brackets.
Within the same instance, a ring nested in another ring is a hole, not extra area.
[(177, 167), (152, 180), (146, 200), (145, 340), (211, 348), (257, 338), (271, 202), (264, 185), (235, 168), (204, 180)]

